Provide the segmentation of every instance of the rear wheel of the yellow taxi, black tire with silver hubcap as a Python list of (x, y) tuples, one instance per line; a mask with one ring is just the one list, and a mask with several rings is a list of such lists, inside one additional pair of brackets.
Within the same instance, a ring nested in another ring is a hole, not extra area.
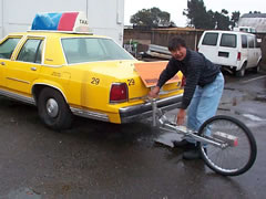
[(38, 112), (41, 121), (50, 128), (68, 129), (72, 125), (73, 115), (60, 92), (45, 87), (38, 96)]

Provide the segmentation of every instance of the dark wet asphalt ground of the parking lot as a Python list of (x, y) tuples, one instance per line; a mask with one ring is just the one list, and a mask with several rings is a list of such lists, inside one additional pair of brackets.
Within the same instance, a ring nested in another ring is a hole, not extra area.
[(183, 160), (174, 135), (151, 118), (114, 125), (75, 117), (72, 129), (53, 132), (34, 106), (0, 97), (0, 199), (264, 198), (266, 73), (225, 77), (218, 114), (244, 122), (257, 142), (246, 174), (223, 177), (203, 160)]

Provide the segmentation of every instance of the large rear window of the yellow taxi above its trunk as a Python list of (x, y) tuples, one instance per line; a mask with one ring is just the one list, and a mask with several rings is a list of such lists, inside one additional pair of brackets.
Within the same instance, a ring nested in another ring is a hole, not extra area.
[(69, 64), (110, 60), (134, 60), (130, 53), (110, 39), (65, 38), (62, 39), (62, 45)]

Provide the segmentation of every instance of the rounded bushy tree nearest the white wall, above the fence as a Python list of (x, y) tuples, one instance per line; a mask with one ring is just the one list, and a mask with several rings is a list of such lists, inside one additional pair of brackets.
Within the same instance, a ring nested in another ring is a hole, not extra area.
[(145, 25), (151, 28), (168, 27), (173, 24), (170, 21), (170, 13), (161, 11), (158, 8), (153, 7), (151, 9), (142, 9), (131, 17), (131, 23), (134, 25)]

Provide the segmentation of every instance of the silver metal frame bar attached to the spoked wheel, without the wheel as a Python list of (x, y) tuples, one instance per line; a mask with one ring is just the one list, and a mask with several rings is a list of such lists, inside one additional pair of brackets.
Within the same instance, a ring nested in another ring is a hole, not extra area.
[(196, 142), (200, 142), (202, 144), (211, 144), (219, 148), (226, 148), (228, 144), (222, 143), (218, 140), (212, 140), (209, 138), (205, 138), (197, 135), (197, 132), (193, 132), (191, 129), (187, 129), (185, 126), (177, 126), (176, 124), (172, 124), (168, 118), (162, 113), (160, 108), (157, 108), (156, 98), (152, 98), (152, 118), (153, 118), (153, 126), (156, 127), (160, 125), (161, 129), (174, 132), (177, 134), (182, 134), (184, 136), (192, 137)]

